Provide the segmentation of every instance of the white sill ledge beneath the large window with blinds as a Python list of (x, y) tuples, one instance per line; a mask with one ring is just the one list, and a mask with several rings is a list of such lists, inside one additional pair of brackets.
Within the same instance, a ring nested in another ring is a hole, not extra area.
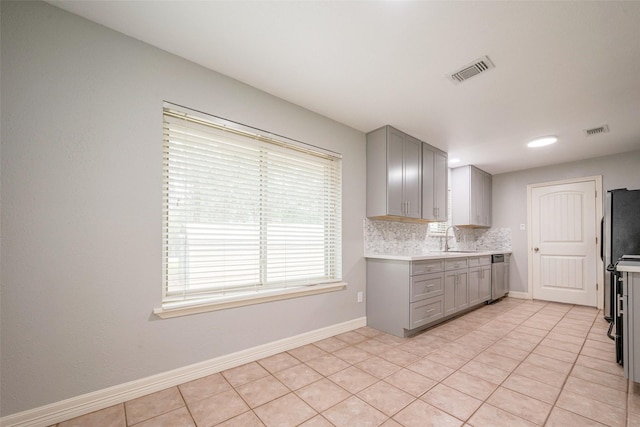
[(215, 300), (187, 301), (167, 303), (160, 308), (153, 309), (153, 314), (161, 319), (206, 313), (208, 311), (225, 310), (227, 308), (243, 307), (246, 305), (262, 304), (265, 302), (298, 298), (307, 295), (335, 292), (347, 287), (346, 282), (329, 283), (326, 285), (304, 286), (293, 289), (260, 292), (251, 295), (232, 296)]

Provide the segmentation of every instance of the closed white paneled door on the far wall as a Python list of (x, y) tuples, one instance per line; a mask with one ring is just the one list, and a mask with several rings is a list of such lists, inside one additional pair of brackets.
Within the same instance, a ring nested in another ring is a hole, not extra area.
[(533, 298), (596, 306), (596, 183), (531, 188)]

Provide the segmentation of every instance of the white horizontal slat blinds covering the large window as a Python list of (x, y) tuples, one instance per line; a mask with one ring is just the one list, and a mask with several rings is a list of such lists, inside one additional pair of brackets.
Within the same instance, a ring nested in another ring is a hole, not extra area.
[(339, 282), (335, 153), (165, 105), (163, 307)]

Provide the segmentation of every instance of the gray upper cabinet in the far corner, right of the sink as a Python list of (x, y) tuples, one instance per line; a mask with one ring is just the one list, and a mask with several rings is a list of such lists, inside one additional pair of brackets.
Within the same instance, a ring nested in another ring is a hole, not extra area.
[(453, 225), (491, 227), (491, 175), (475, 166), (451, 170)]

